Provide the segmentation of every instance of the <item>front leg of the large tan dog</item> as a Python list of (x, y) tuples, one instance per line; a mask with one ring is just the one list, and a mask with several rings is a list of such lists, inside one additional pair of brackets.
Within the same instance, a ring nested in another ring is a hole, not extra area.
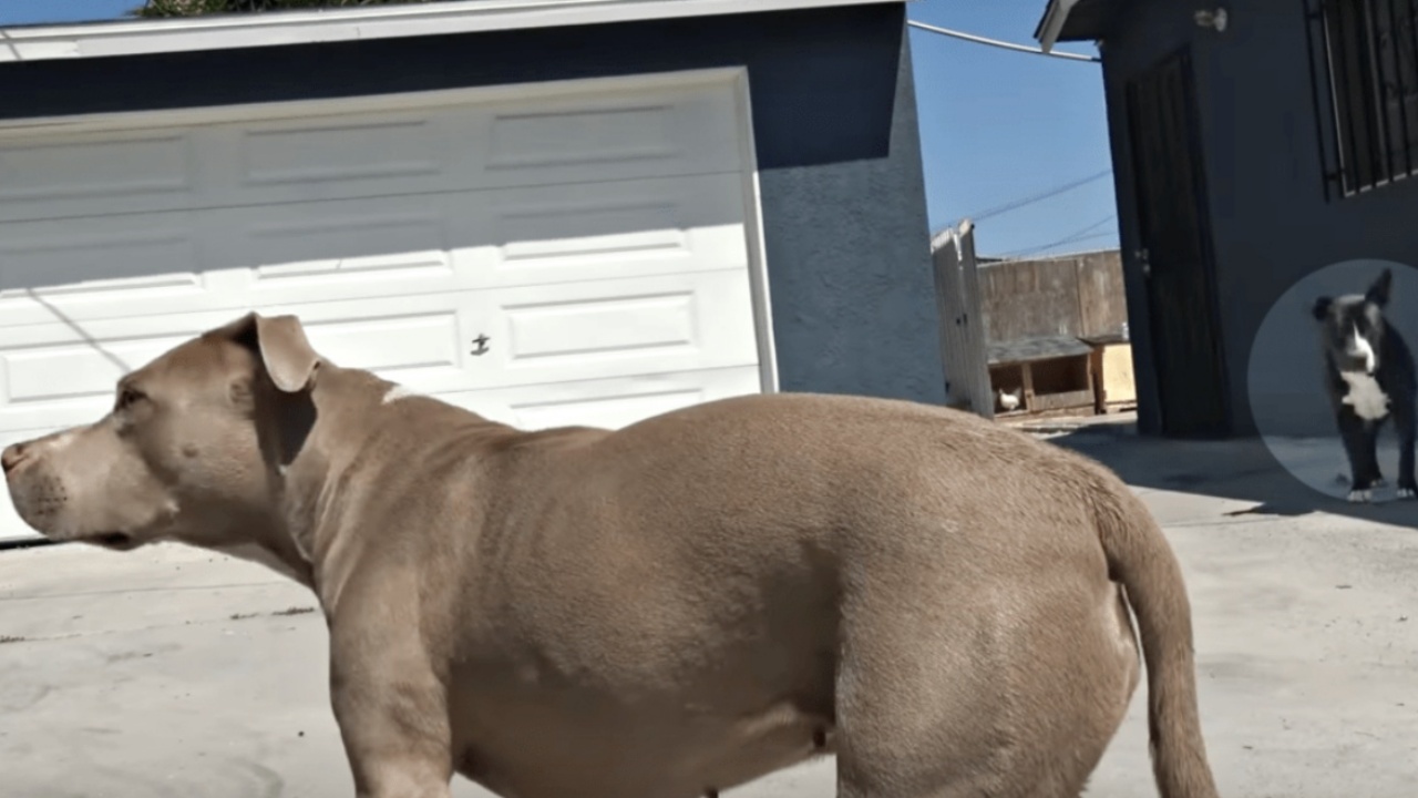
[(356, 798), (450, 797), (447, 694), (415, 638), (332, 623), (330, 701)]

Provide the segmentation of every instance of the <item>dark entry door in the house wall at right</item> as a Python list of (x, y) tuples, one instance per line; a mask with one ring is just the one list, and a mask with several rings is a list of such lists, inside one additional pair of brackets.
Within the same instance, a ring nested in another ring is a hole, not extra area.
[(1229, 425), (1194, 109), (1184, 50), (1127, 87), (1161, 433), (1221, 437)]

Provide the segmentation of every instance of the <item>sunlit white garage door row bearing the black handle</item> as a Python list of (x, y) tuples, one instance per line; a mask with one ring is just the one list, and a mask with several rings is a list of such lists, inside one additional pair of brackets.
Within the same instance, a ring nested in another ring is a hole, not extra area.
[[(336, 364), (448, 392), (753, 365), (750, 307), (746, 274), (710, 271), (257, 310), (299, 315), (311, 344)], [(245, 310), (6, 329), (0, 427), (69, 417), (60, 405), (74, 400), (106, 402), (125, 372)]]

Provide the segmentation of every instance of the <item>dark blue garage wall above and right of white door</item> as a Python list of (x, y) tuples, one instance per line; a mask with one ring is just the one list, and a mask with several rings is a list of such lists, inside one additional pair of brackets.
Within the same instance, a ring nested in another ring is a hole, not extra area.
[(746, 65), (784, 390), (940, 403), (903, 4), (0, 65), (0, 118)]

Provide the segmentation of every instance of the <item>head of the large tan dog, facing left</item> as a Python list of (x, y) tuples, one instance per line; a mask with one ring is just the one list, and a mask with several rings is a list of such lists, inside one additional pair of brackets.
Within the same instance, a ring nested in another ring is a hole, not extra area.
[(318, 366), (295, 317), (208, 331), (123, 376), (98, 422), (9, 446), (10, 501), (55, 541), (250, 542)]

